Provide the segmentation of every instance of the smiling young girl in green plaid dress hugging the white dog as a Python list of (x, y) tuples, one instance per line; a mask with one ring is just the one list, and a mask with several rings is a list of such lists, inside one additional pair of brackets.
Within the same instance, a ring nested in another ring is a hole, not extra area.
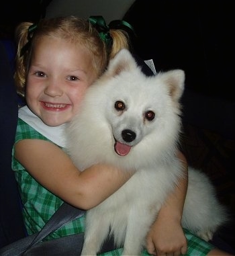
[[(19, 109), (12, 166), (28, 234), (38, 232), (63, 201), (87, 210), (113, 194), (132, 175), (132, 170), (123, 173), (101, 164), (81, 172), (63, 151), (63, 125), (79, 111), (87, 87), (105, 71), (109, 58), (121, 48), (128, 48), (128, 36), (123, 30), (109, 30), (96, 17), (89, 21), (58, 17), (44, 19), (37, 26), (22, 23), (16, 30), (15, 82), (27, 106)], [(187, 173), (181, 153), (179, 158)], [(162, 206), (148, 234), (149, 253), (187, 252), (181, 228), (186, 189), (187, 175)], [(81, 217), (48, 239), (84, 230)], [(203, 245), (206, 253), (212, 248)]]

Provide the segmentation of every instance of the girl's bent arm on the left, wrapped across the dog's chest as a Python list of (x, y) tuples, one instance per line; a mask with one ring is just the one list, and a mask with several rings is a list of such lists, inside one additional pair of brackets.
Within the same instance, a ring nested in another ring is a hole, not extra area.
[(62, 149), (46, 140), (19, 140), (15, 158), (46, 189), (85, 210), (103, 202), (133, 174), (107, 165), (81, 172)]

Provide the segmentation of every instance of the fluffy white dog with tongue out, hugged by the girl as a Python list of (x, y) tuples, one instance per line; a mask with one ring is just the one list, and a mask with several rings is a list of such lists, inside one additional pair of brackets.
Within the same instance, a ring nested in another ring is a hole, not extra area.
[[(146, 234), (183, 171), (176, 157), (181, 132), (181, 70), (146, 77), (121, 50), (85, 95), (68, 124), (68, 153), (80, 170), (108, 163), (136, 173), (107, 200), (87, 211), (82, 255), (96, 255), (109, 228), (123, 255), (140, 255)], [(182, 225), (209, 240), (226, 220), (214, 187), (189, 168)]]

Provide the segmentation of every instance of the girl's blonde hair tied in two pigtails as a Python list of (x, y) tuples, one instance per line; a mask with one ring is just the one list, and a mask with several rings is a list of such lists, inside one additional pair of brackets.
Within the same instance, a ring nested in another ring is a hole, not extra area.
[(122, 48), (129, 48), (128, 34), (124, 30), (109, 30), (113, 43), (108, 49), (95, 27), (85, 19), (75, 16), (42, 19), (33, 32), (30, 32), (30, 26), (32, 27), (32, 23), (22, 22), (15, 30), (17, 42), (15, 84), (17, 93), (23, 97), (32, 49), (42, 36), (55, 36), (87, 48), (93, 57), (93, 69), (97, 77), (105, 71), (110, 58)]

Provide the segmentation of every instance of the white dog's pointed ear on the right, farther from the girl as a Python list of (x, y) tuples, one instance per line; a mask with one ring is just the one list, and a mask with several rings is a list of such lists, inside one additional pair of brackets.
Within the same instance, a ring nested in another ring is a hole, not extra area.
[(162, 73), (162, 79), (169, 87), (169, 93), (174, 101), (178, 102), (185, 87), (185, 72), (175, 69)]

